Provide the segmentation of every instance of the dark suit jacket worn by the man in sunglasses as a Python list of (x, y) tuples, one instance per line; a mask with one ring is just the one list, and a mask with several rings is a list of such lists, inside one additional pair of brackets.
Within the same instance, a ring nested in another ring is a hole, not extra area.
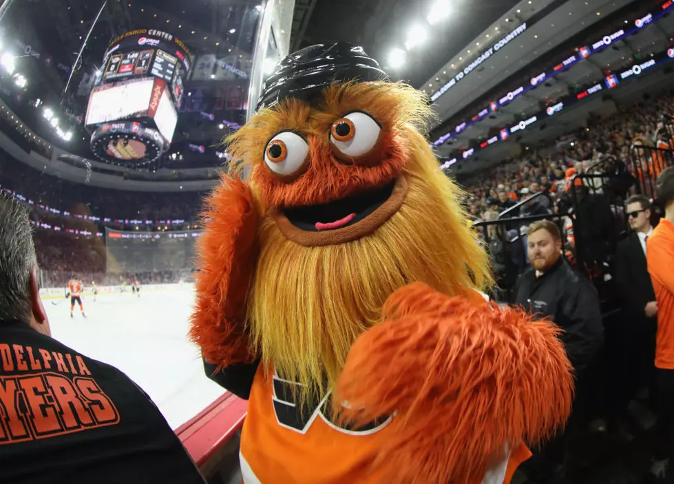
[(646, 266), (646, 254), (636, 232), (621, 240), (615, 251), (615, 283), (624, 310), (633, 317), (646, 319), (644, 308), (655, 301), (655, 293)]

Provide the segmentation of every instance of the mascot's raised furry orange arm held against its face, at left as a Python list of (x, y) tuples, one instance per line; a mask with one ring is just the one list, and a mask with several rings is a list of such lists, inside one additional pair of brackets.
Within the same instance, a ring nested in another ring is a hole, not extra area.
[(244, 318), (257, 257), (258, 215), (244, 182), (222, 180), (203, 213), (207, 221), (198, 242), (200, 273), (190, 337), (204, 359), (224, 367), (251, 361)]

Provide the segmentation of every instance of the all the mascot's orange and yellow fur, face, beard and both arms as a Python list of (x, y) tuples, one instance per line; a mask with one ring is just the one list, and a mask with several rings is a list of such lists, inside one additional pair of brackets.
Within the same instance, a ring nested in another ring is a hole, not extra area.
[[(363, 109), (383, 130), (374, 167), (330, 151), (330, 125)], [(229, 151), (251, 176), (224, 178), (208, 200), (191, 337), (221, 367), (260, 358), (302, 385), (299, 404), (335, 389), (333, 401), (350, 403), (341, 418), (356, 425), (395, 414), (374, 463), (383, 483), (479, 484), (506, 446), (563, 425), (570, 365), (555, 326), (492, 309), (474, 291), (491, 282), (489, 264), (463, 224), (459, 189), (414, 129), (428, 116), (411, 87), (346, 83), (313, 106), (284, 101), (233, 135)], [(310, 147), (306, 172), (290, 182), (264, 162), (282, 129)], [(302, 246), (270, 216), (397, 176), (405, 201), (358, 240)]]

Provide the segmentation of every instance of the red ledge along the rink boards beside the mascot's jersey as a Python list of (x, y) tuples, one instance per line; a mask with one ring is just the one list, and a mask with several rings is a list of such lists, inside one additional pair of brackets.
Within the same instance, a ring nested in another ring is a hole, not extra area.
[(224, 392), (193, 419), (176, 429), (182, 445), (202, 468), (243, 425), (248, 402)]

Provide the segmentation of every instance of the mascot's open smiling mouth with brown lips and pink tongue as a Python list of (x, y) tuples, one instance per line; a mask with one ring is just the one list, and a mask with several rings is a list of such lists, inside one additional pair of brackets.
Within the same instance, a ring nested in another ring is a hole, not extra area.
[(273, 214), (286, 238), (304, 246), (344, 244), (377, 230), (403, 204), (403, 176), (383, 187), (324, 204), (281, 209)]

